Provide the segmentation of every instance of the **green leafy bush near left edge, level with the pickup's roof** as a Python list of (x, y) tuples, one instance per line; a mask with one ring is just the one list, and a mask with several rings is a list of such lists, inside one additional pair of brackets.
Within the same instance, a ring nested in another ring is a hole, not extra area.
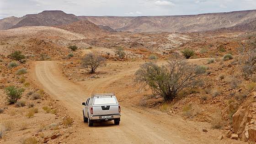
[(6, 87), (5, 88), (5, 93), (7, 95), (7, 101), (10, 104), (16, 103), (18, 99), (21, 98), (21, 94), (24, 92), (24, 89), (22, 88), (17, 88), (14, 86)]

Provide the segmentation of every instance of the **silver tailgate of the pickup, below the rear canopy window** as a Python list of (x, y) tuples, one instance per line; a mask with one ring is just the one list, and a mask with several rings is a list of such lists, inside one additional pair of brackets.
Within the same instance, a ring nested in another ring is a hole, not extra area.
[(118, 104), (93, 106), (93, 115), (111, 115), (118, 113)]

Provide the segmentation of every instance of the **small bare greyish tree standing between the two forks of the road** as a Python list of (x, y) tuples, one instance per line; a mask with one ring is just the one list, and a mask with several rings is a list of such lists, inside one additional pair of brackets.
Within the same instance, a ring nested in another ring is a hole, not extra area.
[(89, 68), (90, 73), (94, 73), (98, 67), (106, 65), (106, 58), (97, 54), (89, 53), (82, 58), (82, 67)]

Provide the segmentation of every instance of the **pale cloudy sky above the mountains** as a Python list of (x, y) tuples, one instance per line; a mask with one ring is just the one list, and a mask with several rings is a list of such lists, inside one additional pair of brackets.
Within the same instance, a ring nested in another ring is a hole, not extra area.
[(256, 0), (0, 0), (0, 19), (43, 10), (75, 15), (193, 15), (256, 9)]

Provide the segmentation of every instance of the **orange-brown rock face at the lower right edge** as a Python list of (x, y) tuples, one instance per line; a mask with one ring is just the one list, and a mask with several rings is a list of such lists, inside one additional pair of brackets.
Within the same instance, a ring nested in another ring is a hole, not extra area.
[[(256, 92), (253, 92), (246, 102), (255, 98)], [(233, 127), (235, 134), (238, 134), (243, 141), (256, 142), (256, 102), (249, 104), (246, 102), (233, 115)]]

